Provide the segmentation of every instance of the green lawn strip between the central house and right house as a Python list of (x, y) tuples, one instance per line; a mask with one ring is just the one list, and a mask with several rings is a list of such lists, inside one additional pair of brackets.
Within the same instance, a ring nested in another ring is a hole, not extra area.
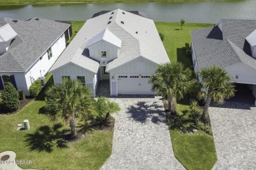
[[(185, 56), (184, 46), (185, 42), (191, 44), (190, 30), (212, 25), (186, 23), (180, 29), (179, 23), (156, 22), (158, 31), (165, 35), (163, 45), (171, 62), (179, 61), (187, 67), (190, 66), (190, 59)], [(181, 117), (185, 116), (183, 112), (189, 110), (188, 99), (178, 101), (177, 110)], [(198, 131), (192, 135), (181, 134), (177, 127), (170, 130), (170, 135), (175, 157), (186, 169), (211, 169), (217, 161), (213, 137), (207, 133)]]

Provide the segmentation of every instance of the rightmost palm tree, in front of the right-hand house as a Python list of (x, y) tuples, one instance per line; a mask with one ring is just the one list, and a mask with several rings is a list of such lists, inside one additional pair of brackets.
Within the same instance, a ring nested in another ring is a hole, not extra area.
[(224, 99), (234, 96), (234, 85), (231, 82), (231, 76), (221, 67), (213, 65), (209, 68), (203, 68), (198, 71), (198, 75), (202, 78), (199, 97), (205, 99), (203, 107), (202, 120), (208, 112), (211, 99), (215, 103), (223, 104)]

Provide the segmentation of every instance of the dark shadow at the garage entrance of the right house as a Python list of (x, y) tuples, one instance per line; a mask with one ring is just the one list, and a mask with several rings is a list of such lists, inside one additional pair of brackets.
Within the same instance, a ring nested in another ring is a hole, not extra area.
[(255, 107), (254, 103), (255, 97), (253, 96), (248, 84), (237, 83), (234, 97), (227, 99), (223, 105), (211, 102), (210, 107), (251, 110), (251, 107)]

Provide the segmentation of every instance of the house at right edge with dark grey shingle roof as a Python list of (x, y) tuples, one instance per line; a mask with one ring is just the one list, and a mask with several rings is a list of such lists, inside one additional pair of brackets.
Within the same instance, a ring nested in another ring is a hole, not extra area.
[(256, 20), (223, 19), (191, 31), (194, 71), (219, 65), (235, 83), (249, 84), (256, 97)]

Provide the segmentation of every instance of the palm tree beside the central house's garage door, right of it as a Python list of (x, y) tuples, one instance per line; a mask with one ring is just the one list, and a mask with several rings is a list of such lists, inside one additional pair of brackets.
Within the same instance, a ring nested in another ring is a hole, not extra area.
[(176, 99), (182, 99), (192, 83), (192, 71), (184, 68), (182, 63), (165, 63), (158, 65), (155, 75), (150, 76), (152, 91), (167, 96), (170, 112), (177, 112)]

